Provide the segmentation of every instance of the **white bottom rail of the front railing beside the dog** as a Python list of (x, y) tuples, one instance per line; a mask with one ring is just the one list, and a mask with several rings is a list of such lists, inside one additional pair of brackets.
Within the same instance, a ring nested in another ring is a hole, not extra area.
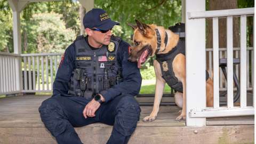
[(254, 107), (220, 107), (218, 109), (202, 109), (202, 110), (193, 110), (189, 112), (190, 117), (226, 117), (226, 116), (247, 116), (254, 115)]

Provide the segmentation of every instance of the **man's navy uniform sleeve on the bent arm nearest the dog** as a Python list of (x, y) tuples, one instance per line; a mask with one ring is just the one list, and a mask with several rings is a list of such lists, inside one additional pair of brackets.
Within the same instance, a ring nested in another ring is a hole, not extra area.
[(128, 47), (129, 44), (123, 41), (119, 44), (117, 60), (122, 66), (124, 81), (100, 93), (105, 98), (106, 102), (120, 94), (135, 96), (140, 92), (140, 70), (137, 67), (137, 62), (128, 61)]

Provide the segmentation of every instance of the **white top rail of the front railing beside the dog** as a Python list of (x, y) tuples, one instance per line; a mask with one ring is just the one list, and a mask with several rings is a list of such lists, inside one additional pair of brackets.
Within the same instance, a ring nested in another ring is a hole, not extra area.
[(254, 14), (254, 7), (244, 8), (244, 9), (188, 12), (188, 19), (229, 17), (229, 16), (250, 15), (250, 14)]

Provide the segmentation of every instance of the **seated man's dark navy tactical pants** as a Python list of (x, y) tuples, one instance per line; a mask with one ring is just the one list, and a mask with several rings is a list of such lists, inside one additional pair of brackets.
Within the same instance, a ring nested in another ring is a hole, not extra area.
[(42, 102), (39, 113), (58, 143), (82, 143), (74, 127), (98, 122), (114, 125), (107, 143), (127, 143), (140, 117), (140, 107), (134, 97), (120, 95), (102, 103), (95, 117), (84, 118), (83, 110), (90, 101), (82, 97), (55, 96)]

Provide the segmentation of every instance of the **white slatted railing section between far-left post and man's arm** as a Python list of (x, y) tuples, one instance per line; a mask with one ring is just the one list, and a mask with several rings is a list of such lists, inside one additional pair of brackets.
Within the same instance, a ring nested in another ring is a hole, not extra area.
[(21, 54), (24, 82), (22, 92), (51, 92), (61, 53)]

